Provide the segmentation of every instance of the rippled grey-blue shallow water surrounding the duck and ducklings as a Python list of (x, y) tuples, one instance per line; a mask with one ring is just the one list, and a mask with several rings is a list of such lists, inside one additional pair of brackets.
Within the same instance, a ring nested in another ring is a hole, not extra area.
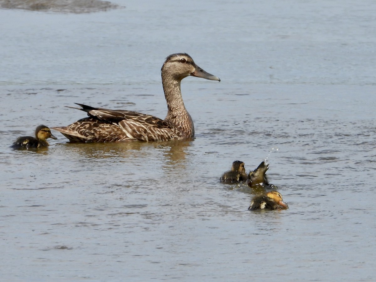
[[(0, 10), (2, 279), (374, 280), (376, 4), (116, 4)], [(182, 82), (194, 141), (9, 148), (75, 102), (163, 118), (174, 52), (221, 78)], [(265, 158), (288, 210), (218, 181)]]

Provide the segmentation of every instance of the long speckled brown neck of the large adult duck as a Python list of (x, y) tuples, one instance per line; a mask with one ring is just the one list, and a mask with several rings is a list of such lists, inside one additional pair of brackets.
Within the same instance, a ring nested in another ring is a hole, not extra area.
[(185, 138), (192, 138), (194, 136), (193, 121), (185, 109), (180, 82), (181, 79), (162, 74), (162, 85), (167, 102), (165, 121), (179, 128)]

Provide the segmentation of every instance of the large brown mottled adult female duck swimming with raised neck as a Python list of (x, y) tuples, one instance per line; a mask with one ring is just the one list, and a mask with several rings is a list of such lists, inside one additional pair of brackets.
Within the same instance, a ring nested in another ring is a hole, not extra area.
[(193, 121), (185, 109), (180, 82), (187, 76), (221, 80), (199, 68), (193, 59), (184, 53), (168, 56), (161, 74), (167, 102), (167, 116), (164, 120), (139, 112), (115, 111), (77, 104), (81, 106), (77, 109), (87, 112), (89, 117), (67, 127), (52, 128), (60, 131), (71, 142), (167, 141), (193, 138)]

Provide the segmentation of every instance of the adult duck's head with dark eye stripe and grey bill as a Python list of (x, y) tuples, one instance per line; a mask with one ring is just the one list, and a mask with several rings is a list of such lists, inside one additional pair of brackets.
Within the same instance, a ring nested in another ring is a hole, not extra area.
[(168, 56), (162, 66), (161, 72), (162, 76), (173, 76), (176, 80), (182, 80), (187, 76), (197, 76), (221, 81), (217, 76), (207, 73), (197, 66), (191, 56), (186, 53), (176, 53)]

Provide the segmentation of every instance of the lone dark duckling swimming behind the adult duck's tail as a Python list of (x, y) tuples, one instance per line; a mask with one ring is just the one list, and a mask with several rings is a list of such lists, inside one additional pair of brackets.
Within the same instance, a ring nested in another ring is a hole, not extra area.
[(35, 138), (32, 136), (20, 137), (14, 141), (11, 147), (26, 150), (48, 147), (50, 144), (46, 141), (47, 138), (58, 139), (52, 135), (51, 130), (47, 126), (40, 125), (35, 129)]

